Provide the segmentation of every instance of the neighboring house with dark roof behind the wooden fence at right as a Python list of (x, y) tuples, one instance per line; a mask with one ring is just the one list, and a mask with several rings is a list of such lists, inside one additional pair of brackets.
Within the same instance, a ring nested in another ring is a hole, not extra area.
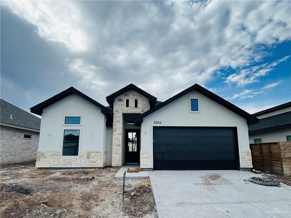
[(291, 141), (291, 102), (253, 114), (260, 123), (249, 126), (249, 142)]

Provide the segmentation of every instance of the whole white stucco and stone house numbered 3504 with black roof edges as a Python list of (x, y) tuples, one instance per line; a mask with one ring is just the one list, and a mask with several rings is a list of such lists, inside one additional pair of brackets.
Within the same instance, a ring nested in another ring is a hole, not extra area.
[(248, 125), (258, 118), (198, 84), (164, 102), (133, 84), (106, 100), (70, 87), (32, 107), (42, 116), (36, 167), (252, 167)]

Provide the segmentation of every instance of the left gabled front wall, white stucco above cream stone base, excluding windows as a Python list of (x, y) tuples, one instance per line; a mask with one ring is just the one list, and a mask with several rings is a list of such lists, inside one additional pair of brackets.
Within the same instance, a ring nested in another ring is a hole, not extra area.
[[(64, 124), (65, 116), (81, 117), (81, 123)], [(77, 94), (71, 94), (46, 107), (42, 112), (36, 166), (86, 167), (104, 165), (97, 164), (96, 161), (106, 163), (106, 120), (107, 117), (101, 113), (99, 107)], [(62, 155), (64, 130), (80, 130), (77, 156)], [(100, 156), (94, 156), (97, 154)], [(92, 159), (92, 157), (94, 158)], [(98, 160), (100, 157), (102, 157), (101, 160)]]

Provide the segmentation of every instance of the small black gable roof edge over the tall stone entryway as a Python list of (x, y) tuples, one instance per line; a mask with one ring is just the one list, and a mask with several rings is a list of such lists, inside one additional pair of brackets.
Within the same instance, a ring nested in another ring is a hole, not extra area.
[(146, 91), (143, 91), (141, 88), (135, 86), (134, 84), (129, 84), (128, 86), (125, 86), (124, 88), (116, 91), (115, 93), (112, 93), (111, 95), (108, 95), (106, 97), (106, 101), (108, 102), (109, 106), (113, 109), (113, 102), (114, 99), (118, 96), (121, 95), (127, 91), (129, 91), (130, 89), (133, 89), (139, 93), (141, 93), (143, 96), (148, 98), (148, 101), (150, 102), (150, 108), (155, 107), (155, 104), (157, 102), (157, 98), (155, 96), (152, 96), (151, 94), (147, 93)]

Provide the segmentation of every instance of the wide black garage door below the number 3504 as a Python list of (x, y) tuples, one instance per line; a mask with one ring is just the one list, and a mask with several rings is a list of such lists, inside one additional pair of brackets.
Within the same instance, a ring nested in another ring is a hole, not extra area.
[(154, 127), (154, 170), (236, 170), (234, 128)]

